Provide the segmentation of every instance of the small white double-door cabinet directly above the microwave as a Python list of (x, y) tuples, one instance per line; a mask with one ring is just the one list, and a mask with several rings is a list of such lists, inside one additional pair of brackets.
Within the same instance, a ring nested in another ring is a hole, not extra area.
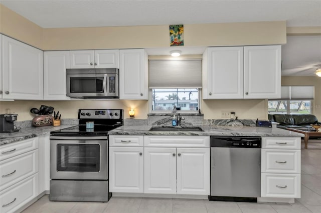
[(119, 68), (119, 50), (72, 50), (70, 68)]

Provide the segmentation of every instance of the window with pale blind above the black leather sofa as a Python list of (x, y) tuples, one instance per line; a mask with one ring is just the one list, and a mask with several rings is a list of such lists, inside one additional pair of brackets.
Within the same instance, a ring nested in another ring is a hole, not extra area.
[(270, 114), (311, 114), (314, 86), (282, 86), (281, 99), (268, 100)]

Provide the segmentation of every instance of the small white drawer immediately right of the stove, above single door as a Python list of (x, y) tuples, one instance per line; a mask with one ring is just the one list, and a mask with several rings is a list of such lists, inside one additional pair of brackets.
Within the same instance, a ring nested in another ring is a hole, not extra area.
[(109, 146), (143, 146), (143, 135), (109, 135)]

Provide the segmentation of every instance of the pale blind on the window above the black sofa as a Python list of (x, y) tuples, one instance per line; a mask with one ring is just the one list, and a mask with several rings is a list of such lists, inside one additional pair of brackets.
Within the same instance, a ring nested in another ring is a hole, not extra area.
[(281, 86), (279, 100), (312, 100), (314, 86)]

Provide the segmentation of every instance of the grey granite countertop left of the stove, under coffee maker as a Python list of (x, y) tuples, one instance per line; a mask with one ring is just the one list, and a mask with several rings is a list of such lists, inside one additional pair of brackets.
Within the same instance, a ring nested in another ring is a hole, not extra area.
[(59, 130), (63, 128), (68, 128), (72, 125), (60, 125), (60, 126), (30, 126), (30, 127), (23, 127), (19, 131), (11, 132), (11, 133), (1, 133), (0, 135), (0, 145), (17, 142), (20, 140), (25, 140), (32, 137), (37, 137), (44, 134), (49, 134), (51, 131)]

